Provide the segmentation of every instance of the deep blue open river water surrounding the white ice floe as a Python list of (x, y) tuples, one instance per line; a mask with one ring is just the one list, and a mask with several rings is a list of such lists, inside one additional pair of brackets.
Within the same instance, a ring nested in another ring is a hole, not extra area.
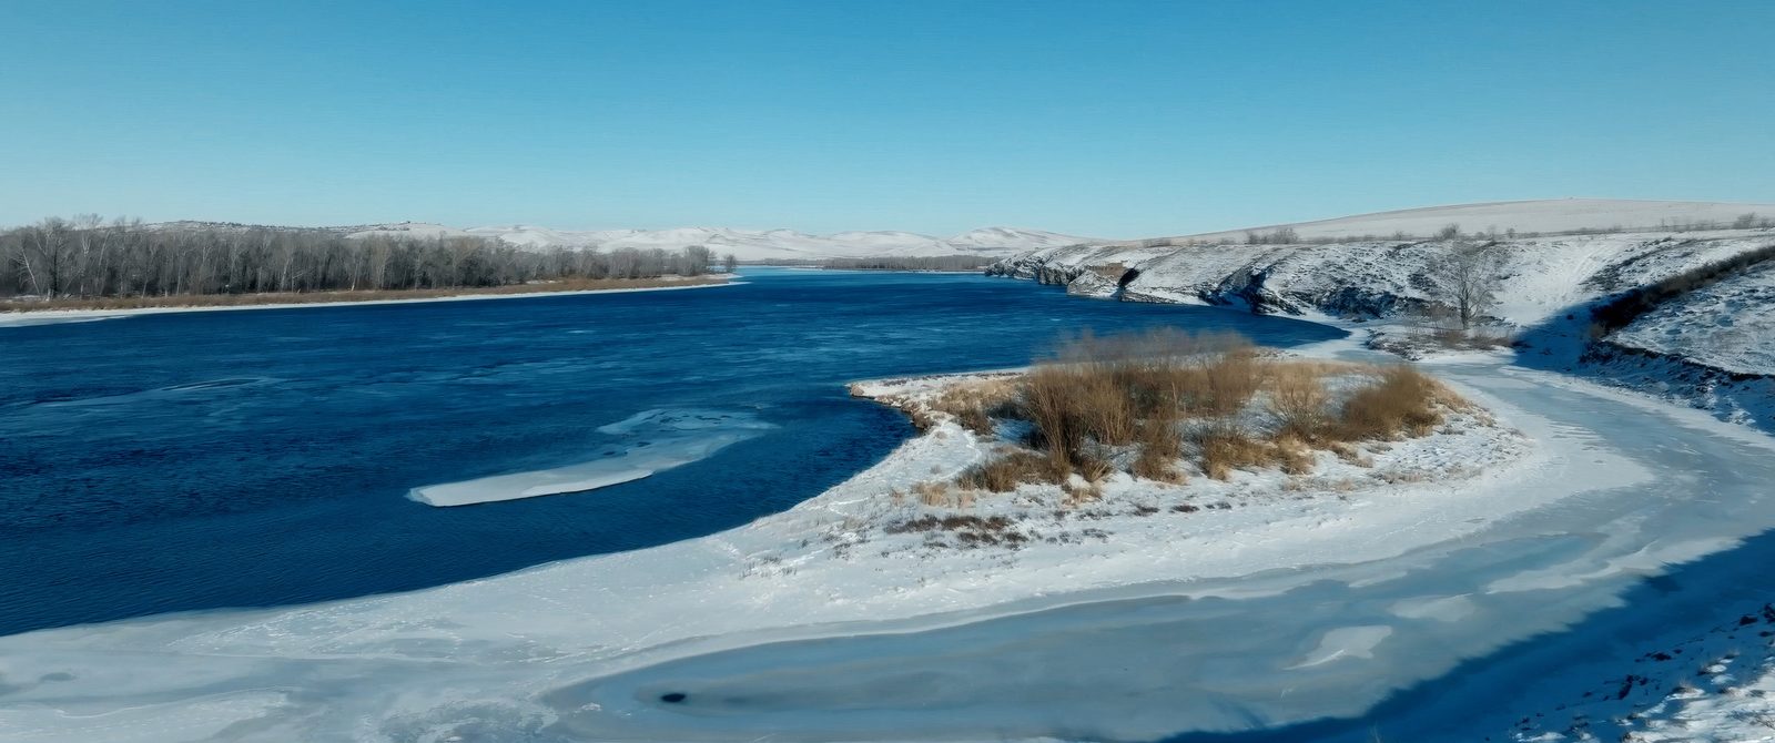
[[(852, 379), (1021, 365), (1083, 328), (1340, 335), (976, 275), (746, 278), (0, 328), (0, 635), (419, 589), (742, 525), (909, 436)], [(653, 443), (635, 420), (674, 415), (742, 418), (751, 438), (595, 491), (408, 498), (632, 454)]]

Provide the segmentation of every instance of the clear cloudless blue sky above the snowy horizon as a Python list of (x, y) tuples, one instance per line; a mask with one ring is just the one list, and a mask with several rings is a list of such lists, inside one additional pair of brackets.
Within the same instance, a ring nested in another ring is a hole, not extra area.
[(1775, 202), (1775, 2), (0, 0), (0, 223)]

